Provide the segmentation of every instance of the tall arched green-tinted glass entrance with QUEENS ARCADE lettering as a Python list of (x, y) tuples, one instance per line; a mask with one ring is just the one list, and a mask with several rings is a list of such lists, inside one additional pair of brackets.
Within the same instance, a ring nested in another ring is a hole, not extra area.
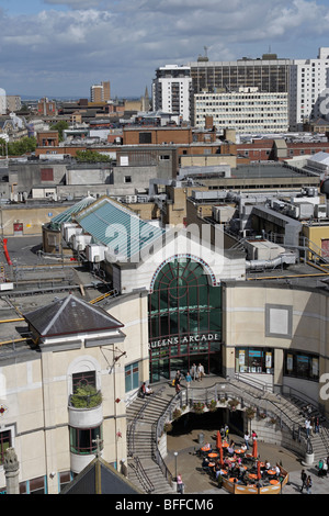
[(202, 363), (222, 373), (222, 288), (197, 261), (163, 265), (149, 294), (150, 381), (172, 378)]

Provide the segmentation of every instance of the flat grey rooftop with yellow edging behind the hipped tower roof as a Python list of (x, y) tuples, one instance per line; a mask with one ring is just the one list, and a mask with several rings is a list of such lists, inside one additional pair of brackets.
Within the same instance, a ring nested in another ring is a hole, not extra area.
[[(39, 257), (42, 237), (9, 237), (8, 250), (13, 262), (11, 273), (5, 269), (5, 279), (13, 290), (0, 292), (0, 362), (15, 356), (35, 355), (29, 338), (23, 314), (46, 306), (72, 293), (90, 302), (110, 290), (110, 285), (88, 269), (75, 262), (65, 262), (56, 257)], [(2, 254), (2, 251), (1, 251)]]

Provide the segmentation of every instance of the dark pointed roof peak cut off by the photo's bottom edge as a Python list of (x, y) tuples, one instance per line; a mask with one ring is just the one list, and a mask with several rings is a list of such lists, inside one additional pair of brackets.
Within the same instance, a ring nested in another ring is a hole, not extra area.
[(102, 458), (93, 459), (60, 494), (143, 494)]

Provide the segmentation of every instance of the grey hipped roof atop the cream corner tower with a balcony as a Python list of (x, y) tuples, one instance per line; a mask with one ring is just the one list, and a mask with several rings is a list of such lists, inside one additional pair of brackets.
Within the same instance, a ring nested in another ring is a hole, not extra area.
[(123, 327), (104, 310), (72, 294), (47, 306), (24, 314), (25, 321), (41, 337), (53, 337), (87, 332), (104, 332)]

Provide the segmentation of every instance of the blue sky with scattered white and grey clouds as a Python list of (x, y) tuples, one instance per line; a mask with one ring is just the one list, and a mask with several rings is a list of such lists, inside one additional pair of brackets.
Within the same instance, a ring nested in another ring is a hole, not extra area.
[(0, 88), (21, 97), (151, 92), (156, 69), (200, 55), (316, 58), (329, 0), (0, 0)]

